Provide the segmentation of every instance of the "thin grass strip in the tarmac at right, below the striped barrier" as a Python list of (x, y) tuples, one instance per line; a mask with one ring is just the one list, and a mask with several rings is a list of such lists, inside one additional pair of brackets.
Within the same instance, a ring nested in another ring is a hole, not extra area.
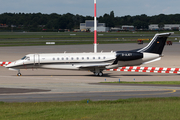
[(151, 81), (151, 82), (101, 82), (101, 83), (115, 83), (115, 84), (160, 84), (160, 85), (180, 85), (180, 81)]

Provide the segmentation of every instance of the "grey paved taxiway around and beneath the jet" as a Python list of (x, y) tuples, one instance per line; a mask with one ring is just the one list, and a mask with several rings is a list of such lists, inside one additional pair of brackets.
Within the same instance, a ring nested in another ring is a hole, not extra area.
[[(98, 45), (98, 51), (132, 50), (144, 47), (137, 44)], [(0, 61), (14, 61), (29, 53), (92, 52), (93, 45), (21, 46), (0, 47)], [(146, 64), (151, 67), (180, 67), (180, 44), (165, 46), (162, 60)], [(179, 86), (101, 85), (110, 81), (179, 81), (179, 74), (131, 73), (105, 71), (103, 77), (88, 71), (67, 70), (22, 70), (17, 77), (15, 71), (0, 67), (0, 101), (39, 102), (70, 100), (116, 100), (131, 97), (180, 96)], [(92, 84), (93, 83), (93, 84)], [(10, 89), (8, 89), (10, 88)], [(2, 90), (6, 92), (2, 92)], [(26, 92), (23, 92), (23, 91)], [(16, 91), (16, 92), (15, 92)]]

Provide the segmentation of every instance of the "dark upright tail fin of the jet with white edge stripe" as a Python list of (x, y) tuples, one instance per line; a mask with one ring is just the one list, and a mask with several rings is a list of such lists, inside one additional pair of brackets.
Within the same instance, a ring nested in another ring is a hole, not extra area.
[(173, 33), (156, 34), (146, 47), (138, 50), (137, 52), (148, 52), (161, 55), (164, 49), (164, 45), (166, 44), (166, 40), (171, 34)]

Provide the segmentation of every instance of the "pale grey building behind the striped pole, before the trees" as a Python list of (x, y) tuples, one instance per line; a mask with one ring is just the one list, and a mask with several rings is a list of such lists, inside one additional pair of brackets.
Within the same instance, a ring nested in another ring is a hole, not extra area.
[[(91, 32), (94, 31), (94, 20), (86, 20), (85, 23), (80, 23), (80, 30), (87, 31), (90, 30)], [(105, 23), (98, 23), (97, 21), (97, 32), (107, 32), (109, 29), (106, 27)]]

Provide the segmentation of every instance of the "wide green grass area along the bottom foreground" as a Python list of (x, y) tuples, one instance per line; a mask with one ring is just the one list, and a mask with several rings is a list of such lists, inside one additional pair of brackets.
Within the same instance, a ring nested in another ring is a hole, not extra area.
[(132, 98), (116, 101), (0, 103), (6, 120), (178, 120), (180, 98)]

